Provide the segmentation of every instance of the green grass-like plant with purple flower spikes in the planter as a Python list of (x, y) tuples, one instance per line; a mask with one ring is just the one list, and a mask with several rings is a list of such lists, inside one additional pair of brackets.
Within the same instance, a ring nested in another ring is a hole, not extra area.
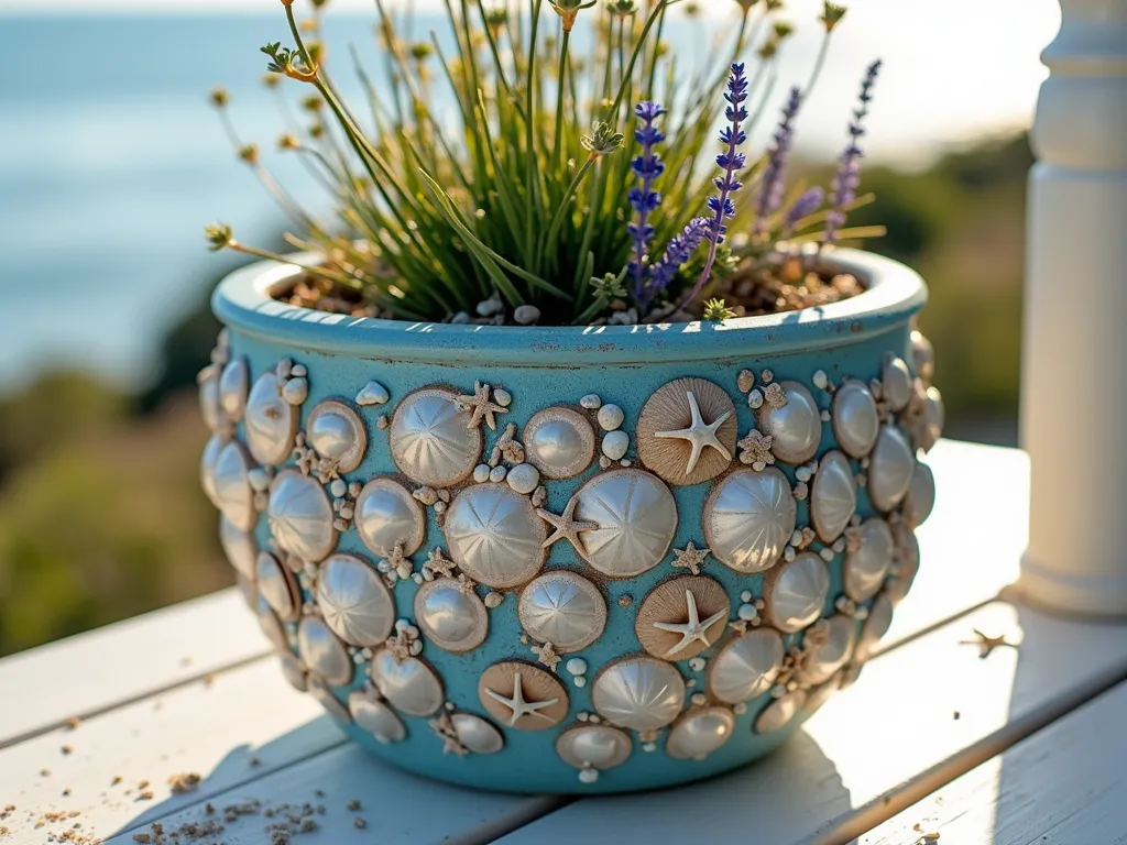
[[(292, 216), (290, 242), (325, 256), (309, 273), (400, 319), (722, 319), (728, 305), (706, 299), (726, 277), (771, 260), (780, 239), (824, 244), (879, 233), (844, 228), (846, 211), (868, 199), (857, 197), (857, 141), (879, 63), (828, 206), (822, 188), (784, 187), (795, 118), (844, 7), (825, 2), (810, 75), (790, 91), (771, 149), (753, 159), (743, 146), (772, 100), (793, 32), (781, 1), (736, 0), (738, 24), (713, 51), (720, 57), (692, 72), (663, 35), (683, 25), (676, 6), (692, 16), (696, 3), (596, 2), (445, 0), (450, 39), (431, 33), (411, 43), (375, 0), (387, 66), (373, 77), (353, 52), (367, 95), (362, 116), (330, 73), (326, 0), (313, 0), (308, 20), (282, 0), (294, 46), (263, 47), (267, 81), (281, 96), (282, 81), (308, 89), (309, 124), (278, 145), (330, 192), (330, 223), (285, 193), (258, 148), (239, 140), (227, 94), (216, 89), (212, 99), (239, 155)], [(593, 50), (576, 50), (577, 33)], [(451, 41), (453, 48), (443, 46)], [(737, 210), (745, 184), (749, 199)], [(276, 258), (237, 241), (229, 225), (206, 234), (213, 249)]]

